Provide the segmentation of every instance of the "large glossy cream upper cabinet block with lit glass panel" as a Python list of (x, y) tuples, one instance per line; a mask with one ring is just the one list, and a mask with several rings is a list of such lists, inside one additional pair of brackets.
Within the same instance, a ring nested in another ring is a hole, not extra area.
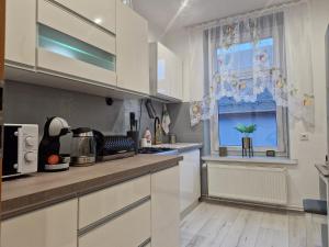
[(149, 94), (148, 24), (121, 0), (8, 0), (5, 18), (8, 79)]

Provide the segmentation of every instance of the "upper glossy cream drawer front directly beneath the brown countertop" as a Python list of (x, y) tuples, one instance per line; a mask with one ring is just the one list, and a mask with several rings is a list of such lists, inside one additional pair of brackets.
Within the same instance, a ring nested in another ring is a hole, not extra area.
[(87, 194), (79, 199), (79, 228), (150, 195), (150, 176)]

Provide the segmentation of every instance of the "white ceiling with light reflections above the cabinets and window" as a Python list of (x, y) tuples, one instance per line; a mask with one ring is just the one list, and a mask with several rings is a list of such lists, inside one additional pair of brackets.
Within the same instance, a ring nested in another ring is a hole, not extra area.
[(151, 25), (161, 30), (174, 30), (288, 1), (291, 0), (133, 0), (133, 4)]

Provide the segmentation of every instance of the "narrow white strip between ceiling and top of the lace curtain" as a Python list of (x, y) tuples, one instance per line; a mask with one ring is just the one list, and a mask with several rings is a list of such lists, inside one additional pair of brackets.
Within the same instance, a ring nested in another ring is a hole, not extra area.
[(288, 7), (292, 7), (292, 5), (295, 5), (295, 4), (299, 4), (302, 2), (307, 2), (307, 0), (292, 0), (290, 2), (273, 4), (273, 5), (270, 5), (270, 7), (262, 8), (262, 9), (257, 9), (257, 10), (248, 11), (248, 12), (240, 13), (240, 14), (231, 14), (231, 15), (228, 15), (228, 16), (225, 16), (225, 18), (219, 18), (219, 19), (216, 19), (216, 20), (206, 21), (206, 22), (203, 22), (203, 23), (190, 25), (190, 26), (186, 26), (186, 29), (209, 29), (209, 27), (216, 26), (220, 23), (229, 22), (231, 19), (246, 19), (250, 15), (257, 15), (257, 14), (261, 14), (261, 13), (264, 14), (264, 13), (268, 13), (268, 12), (279, 11), (279, 10), (284, 9), (284, 8), (288, 8)]

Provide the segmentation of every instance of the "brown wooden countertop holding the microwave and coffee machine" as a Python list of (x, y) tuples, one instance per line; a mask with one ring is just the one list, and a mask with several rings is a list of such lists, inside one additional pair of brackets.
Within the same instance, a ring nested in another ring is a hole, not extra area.
[(147, 173), (174, 167), (180, 156), (137, 155), (131, 158), (42, 172), (2, 183), (2, 220), (77, 198)]

